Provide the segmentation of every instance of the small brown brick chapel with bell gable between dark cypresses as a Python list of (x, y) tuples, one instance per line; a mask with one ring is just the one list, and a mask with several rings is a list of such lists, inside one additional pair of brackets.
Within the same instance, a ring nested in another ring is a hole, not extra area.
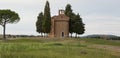
[(69, 17), (64, 13), (59, 10), (59, 14), (51, 18), (50, 37), (69, 37)]

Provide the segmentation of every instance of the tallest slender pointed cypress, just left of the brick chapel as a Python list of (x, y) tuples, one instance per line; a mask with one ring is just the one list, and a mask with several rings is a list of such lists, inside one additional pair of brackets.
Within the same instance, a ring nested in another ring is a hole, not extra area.
[(43, 31), (45, 33), (50, 33), (50, 30), (51, 30), (51, 13), (49, 2), (46, 1), (46, 5), (44, 8)]

